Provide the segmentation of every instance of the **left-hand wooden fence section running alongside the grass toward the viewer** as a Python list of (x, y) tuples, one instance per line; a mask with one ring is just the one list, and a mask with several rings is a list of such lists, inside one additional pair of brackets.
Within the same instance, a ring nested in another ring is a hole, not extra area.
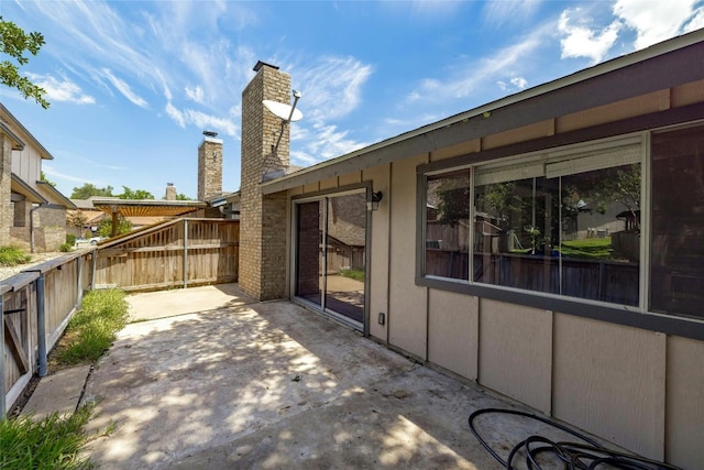
[(46, 356), (90, 288), (94, 251), (33, 266), (0, 281), (0, 419), (32, 375), (46, 375)]

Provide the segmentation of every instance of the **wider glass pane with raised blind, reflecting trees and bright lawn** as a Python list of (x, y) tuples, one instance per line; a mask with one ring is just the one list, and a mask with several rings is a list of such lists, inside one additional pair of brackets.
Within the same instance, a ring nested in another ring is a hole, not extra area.
[(474, 282), (638, 305), (639, 149), (617, 142), (479, 167)]

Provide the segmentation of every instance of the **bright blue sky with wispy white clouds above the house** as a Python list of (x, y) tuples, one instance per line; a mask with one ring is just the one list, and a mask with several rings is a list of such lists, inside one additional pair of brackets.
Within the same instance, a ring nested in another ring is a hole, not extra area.
[[(704, 28), (704, 0), (8, 1), (0, 14), (46, 40), (22, 70), (42, 109), (0, 88), (84, 183), (197, 194), (204, 130), (240, 187), (242, 89), (257, 59), (290, 74), (304, 119), (292, 163), (310, 166), (609, 58)], [(4, 57), (2, 57), (4, 58)]]

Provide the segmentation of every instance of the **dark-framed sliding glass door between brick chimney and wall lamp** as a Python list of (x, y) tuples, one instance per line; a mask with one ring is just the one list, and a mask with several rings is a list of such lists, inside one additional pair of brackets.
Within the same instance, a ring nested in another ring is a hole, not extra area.
[(363, 329), (366, 194), (298, 203), (295, 214), (296, 297)]

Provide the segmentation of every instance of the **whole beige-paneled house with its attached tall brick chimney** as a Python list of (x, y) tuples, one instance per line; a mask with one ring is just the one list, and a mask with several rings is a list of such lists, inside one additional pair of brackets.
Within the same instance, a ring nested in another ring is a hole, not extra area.
[[(242, 94), (246, 294), (701, 467), (704, 31), (272, 179), (288, 130), (262, 100), (289, 102), (290, 77), (256, 72)], [(364, 233), (356, 285), (330, 256), (348, 205), (363, 214), (346, 220)]]

